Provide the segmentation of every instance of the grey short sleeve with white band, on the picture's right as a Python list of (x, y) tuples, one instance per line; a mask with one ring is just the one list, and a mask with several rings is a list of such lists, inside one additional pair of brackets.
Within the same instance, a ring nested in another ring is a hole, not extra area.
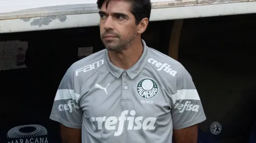
[(203, 106), (192, 81), (184, 67), (177, 74), (177, 91), (172, 95), (171, 109), (173, 129), (182, 129), (206, 120)]

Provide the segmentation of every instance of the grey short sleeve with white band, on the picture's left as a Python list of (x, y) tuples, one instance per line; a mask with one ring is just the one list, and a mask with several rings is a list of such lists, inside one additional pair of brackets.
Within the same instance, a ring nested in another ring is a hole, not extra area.
[(50, 119), (70, 128), (81, 128), (83, 114), (78, 104), (74, 70), (69, 68), (57, 89)]

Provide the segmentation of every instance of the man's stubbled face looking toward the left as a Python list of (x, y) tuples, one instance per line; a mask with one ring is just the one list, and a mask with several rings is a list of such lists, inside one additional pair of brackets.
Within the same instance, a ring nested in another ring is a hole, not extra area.
[(125, 50), (137, 36), (135, 17), (131, 13), (131, 3), (112, 0), (106, 9), (106, 2), (100, 9), (100, 36), (108, 50)]

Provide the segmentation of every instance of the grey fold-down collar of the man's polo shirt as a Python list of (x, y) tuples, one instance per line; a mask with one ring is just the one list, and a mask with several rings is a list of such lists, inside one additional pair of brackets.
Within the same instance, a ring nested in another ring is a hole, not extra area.
[(130, 69), (127, 69), (127, 70), (123, 70), (117, 66), (114, 66), (114, 64), (109, 59), (108, 50), (106, 49), (104, 53), (104, 59), (106, 61), (106, 65), (109, 72), (113, 74), (115, 77), (119, 78), (122, 75), (122, 73), (125, 71), (130, 76), (131, 79), (134, 79), (142, 71), (148, 59), (149, 49), (144, 40), (142, 40), (142, 44), (143, 44), (142, 56)]

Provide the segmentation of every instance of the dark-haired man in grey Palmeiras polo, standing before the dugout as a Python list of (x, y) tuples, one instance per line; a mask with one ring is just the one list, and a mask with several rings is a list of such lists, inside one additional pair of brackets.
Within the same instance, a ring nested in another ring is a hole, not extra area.
[(67, 143), (194, 143), (206, 117), (185, 68), (146, 46), (149, 0), (98, 0), (106, 49), (75, 62), (51, 119)]

